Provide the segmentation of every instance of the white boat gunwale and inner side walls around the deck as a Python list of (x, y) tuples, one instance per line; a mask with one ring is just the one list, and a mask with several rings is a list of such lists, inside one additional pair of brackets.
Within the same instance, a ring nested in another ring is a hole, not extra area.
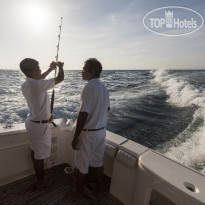
[[(51, 132), (51, 157), (45, 167), (62, 163), (74, 167), (74, 130), (58, 126)], [(34, 173), (24, 124), (0, 127), (0, 164), (0, 186)], [(205, 204), (203, 174), (109, 131), (104, 172), (111, 177), (110, 193), (126, 205)]]

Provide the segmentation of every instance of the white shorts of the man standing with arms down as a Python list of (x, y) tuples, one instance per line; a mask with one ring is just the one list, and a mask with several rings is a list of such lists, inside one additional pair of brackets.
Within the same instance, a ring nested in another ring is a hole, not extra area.
[(75, 155), (75, 166), (87, 174), (89, 166), (102, 167), (105, 152), (106, 130), (82, 131), (79, 139), (79, 150)]

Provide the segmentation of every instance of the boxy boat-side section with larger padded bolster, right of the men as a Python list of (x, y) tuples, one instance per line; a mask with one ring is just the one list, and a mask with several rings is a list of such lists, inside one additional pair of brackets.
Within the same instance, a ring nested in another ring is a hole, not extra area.
[(133, 200), (139, 157), (147, 150), (147, 147), (130, 140), (119, 146), (114, 161), (110, 193), (126, 205), (130, 205)]

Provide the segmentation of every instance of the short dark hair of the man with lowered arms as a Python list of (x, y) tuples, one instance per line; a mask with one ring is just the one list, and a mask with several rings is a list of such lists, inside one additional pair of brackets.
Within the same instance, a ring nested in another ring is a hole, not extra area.
[(87, 66), (89, 72), (95, 71), (95, 76), (97, 78), (100, 77), (100, 73), (102, 72), (102, 65), (98, 59), (89, 58), (85, 61), (85, 65)]

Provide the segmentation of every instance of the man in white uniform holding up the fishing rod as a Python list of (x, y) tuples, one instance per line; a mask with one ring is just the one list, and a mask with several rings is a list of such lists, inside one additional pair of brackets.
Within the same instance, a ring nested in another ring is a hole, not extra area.
[[(45, 80), (46, 76), (56, 66), (59, 73), (56, 78)], [(31, 158), (36, 174), (36, 188), (45, 185), (44, 181), (44, 159), (51, 153), (51, 132), (48, 124), (50, 113), (50, 101), (47, 90), (64, 80), (62, 62), (52, 62), (49, 69), (41, 74), (38, 61), (25, 58), (20, 63), (20, 69), (25, 74), (26, 81), (21, 90), (29, 107), (29, 115), (26, 120), (26, 131), (31, 141)]]

